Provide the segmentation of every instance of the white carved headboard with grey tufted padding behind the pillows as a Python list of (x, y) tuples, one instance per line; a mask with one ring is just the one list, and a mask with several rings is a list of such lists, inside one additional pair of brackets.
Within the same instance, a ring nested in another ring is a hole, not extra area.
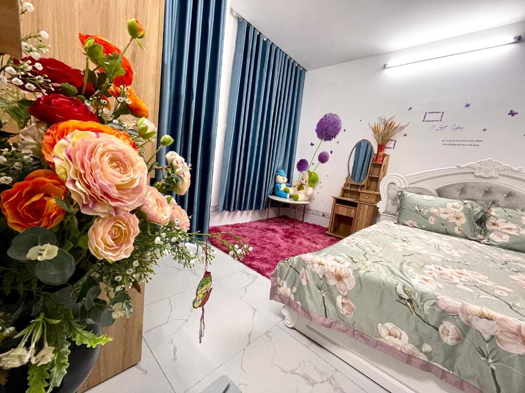
[(492, 158), (406, 176), (388, 174), (380, 185), (380, 220), (395, 220), (399, 211), (397, 191), (401, 189), (449, 199), (492, 201), (503, 208), (525, 210), (525, 171)]

